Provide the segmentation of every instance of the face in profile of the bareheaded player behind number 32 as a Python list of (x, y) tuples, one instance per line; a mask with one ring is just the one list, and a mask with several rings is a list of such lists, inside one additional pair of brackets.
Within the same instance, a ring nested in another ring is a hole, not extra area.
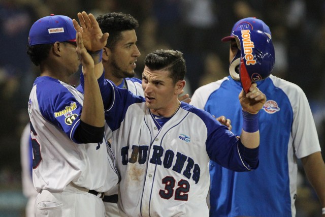
[(122, 38), (116, 42), (114, 48), (105, 47), (103, 54), (105, 77), (112, 80), (116, 85), (123, 78), (135, 76), (136, 61), (141, 55), (136, 45), (135, 30), (125, 30), (121, 34)]

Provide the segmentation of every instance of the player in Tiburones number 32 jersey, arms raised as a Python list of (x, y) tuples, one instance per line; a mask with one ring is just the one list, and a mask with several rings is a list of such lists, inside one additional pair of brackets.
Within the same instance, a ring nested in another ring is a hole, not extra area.
[(157, 50), (145, 58), (145, 98), (99, 81), (121, 174), (122, 216), (207, 216), (209, 158), (236, 171), (258, 166), (256, 116), (265, 95), (255, 84), (246, 96), (241, 92), (247, 128), (239, 139), (209, 113), (178, 100), (185, 72), (181, 52)]

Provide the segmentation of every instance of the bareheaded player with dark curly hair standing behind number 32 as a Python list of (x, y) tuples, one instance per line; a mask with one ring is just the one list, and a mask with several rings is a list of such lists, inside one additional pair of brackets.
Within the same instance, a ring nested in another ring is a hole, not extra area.
[[(117, 87), (128, 89), (133, 94), (144, 97), (141, 80), (134, 78), (137, 58), (141, 55), (136, 45), (136, 28), (139, 23), (133, 16), (124, 13), (108, 13), (96, 18), (103, 33), (109, 33), (107, 44), (103, 49), (102, 63), (105, 78), (111, 80)], [(81, 85), (77, 87), (83, 91)], [(189, 102), (188, 94), (179, 100)], [(112, 131), (105, 126), (105, 135), (111, 143)], [(114, 149), (115, 145), (111, 145)], [(117, 186), (105, 193), (103, 198), (106, 216), (120, 216), (117, 207)]]

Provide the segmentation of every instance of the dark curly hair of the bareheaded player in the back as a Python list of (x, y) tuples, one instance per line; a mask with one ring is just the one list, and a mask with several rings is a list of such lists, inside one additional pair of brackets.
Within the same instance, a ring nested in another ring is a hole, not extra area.
[(125, 30), (132, 30), (139, 27), (139, 22), (133, 16), (120, 12), (112, 12), (100, 15), (96, 18), (103, 33), (109, 33), (106, 47), (114, 49), (122, 33)]

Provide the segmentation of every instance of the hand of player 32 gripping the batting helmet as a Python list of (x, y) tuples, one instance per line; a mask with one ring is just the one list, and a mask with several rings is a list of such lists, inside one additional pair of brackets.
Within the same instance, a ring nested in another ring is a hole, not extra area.
[(263, 94), (263, 92), (257, 88), (256, 83), (252, 83), (249, 88), (249, 92), (246, 95), (244, 90), (242, 90), (238, 98), (242, 109), (251, 114), (256, 114), (262, 109), (266, 102), (265, 94)]

